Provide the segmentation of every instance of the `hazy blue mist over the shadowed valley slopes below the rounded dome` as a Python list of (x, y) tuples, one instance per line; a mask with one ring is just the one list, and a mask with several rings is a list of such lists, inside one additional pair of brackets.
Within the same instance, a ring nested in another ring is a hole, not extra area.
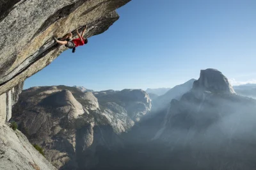
[(172, 101), (170, 108), (155, 111), (122, 134), (125, 146), (106, 154), (105, 167), (255, 169), (256, 101), (239, 95), (195, 95)]

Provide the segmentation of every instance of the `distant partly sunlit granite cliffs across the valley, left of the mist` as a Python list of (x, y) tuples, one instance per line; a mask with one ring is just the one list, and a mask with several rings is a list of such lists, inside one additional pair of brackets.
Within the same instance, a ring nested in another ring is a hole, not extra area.
[(122, 147), (120, 135), (151, 109), (140, 89), (94, 94), (67, 86), (26, 89), (13, 108), (13, 120), (58, 169), (93, 169), (101, 153)]

